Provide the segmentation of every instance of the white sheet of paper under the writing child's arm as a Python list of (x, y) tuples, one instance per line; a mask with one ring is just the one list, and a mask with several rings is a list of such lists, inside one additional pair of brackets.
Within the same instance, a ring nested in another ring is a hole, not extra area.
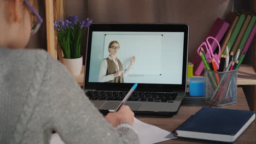
[[(150, 125), (147, 123), (143, 123), (139, 121), (137, 118), (134, 119), (133, 127), (138, 131), (139, 142), (141, 144), (150, 144), (161, 141), (167, 141), (171, 139), (176, 139), (174, 134), (166, 131), (164, 129), (160, 129), (154, 125)], [(59, 134), (55, 133), (51, 135), (50, 144), (65, 144)]]

